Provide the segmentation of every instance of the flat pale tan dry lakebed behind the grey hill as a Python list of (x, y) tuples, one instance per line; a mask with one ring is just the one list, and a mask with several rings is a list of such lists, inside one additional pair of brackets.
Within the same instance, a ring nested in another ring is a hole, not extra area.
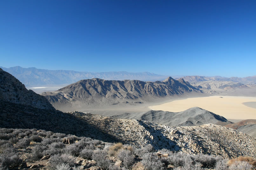
[(256, 108), (244, 105), (245, 102), (256, 102), (255, 97), (210, 96), (187, 98), (165, 104), (150, 106), (152, 110), (180, 112), (192, 107), (200, 107), (227, 119), (256, 119)]

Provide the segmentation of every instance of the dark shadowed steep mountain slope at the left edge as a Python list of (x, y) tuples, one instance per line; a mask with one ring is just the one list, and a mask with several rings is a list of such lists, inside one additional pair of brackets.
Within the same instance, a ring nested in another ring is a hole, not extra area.
[(18, 79), (0, 68), (0, 100), (24, 104), (39, 109), (55, 110), (49, 101), (32, 90), (27, 90)]

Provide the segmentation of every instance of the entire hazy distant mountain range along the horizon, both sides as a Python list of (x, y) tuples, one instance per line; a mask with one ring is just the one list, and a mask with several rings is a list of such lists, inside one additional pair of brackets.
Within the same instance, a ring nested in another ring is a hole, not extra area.
[[(20, 66), (5, 68), (4, 71), (9, 72), (21, 81), (26, 87), (35, 86), (56, 86), (68, 85), (83, 79), (99, 78), (105, 80), (141, 80), (141, 81), (157, 81), (164, 80), (168, 76), (158, 75), (150, 72), (77, 72), (71, 70), (46, 70), (37, 69), (35, 67), (23, 68)], [(179, 79), (181, 76), (172, 76)], [(190, 83), (201, 81), (232, 81), (242, 84), (256, 84), (256, 76), (239, 78), (239, 77), (221, 77), (221, 76), (185, 76), (182, 77)]]

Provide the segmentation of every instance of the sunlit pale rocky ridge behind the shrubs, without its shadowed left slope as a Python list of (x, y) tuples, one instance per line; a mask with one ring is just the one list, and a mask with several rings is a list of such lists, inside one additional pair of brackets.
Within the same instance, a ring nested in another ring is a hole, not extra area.
[(256, 156), (255, 138), (215, 124), (172, 127), (142, 120), (114, 119), (76, 111), (68, 113), (80, 116), (80, 119), (104, 133), (138, 148), (151, 144), (156, 149), (167, 148), (187, 154), (201, 153), (223, 157)]

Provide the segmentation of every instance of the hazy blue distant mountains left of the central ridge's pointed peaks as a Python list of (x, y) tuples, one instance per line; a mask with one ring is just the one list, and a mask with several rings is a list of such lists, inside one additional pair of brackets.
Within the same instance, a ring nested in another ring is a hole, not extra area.
[(49, 86), (64, 85), (75, 83), (82, 79), (100, 78), (107, 80), (123, 80), (138, 79), (142, 81), (163, 80), (166, 76), (158, 75), (150, 72), (77, 72), (70, 70), (44, 70), (31, 68), (22, 68), (20, 66), (5, 68), (4, 71), (9, 72), (19, 79), (26, 86)]

